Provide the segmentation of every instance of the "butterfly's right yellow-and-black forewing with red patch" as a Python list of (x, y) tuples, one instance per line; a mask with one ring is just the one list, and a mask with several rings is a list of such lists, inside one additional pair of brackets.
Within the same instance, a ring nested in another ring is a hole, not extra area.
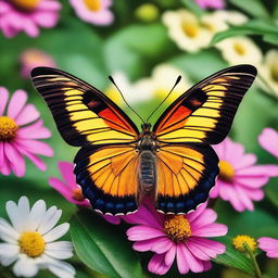
[(256, 76), (252, 65), (220, 71), (180, 96), (153, 127), (168, 143), (219, 143), (227, 136), (239, 103)]

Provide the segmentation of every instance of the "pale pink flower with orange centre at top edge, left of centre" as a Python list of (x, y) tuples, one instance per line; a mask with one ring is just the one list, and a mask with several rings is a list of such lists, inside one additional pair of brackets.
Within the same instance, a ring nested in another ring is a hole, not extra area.
[(94, 25), (110, 25), (114, 14), (109, 10), (112, 0), (70, 0), (76, 14), (85, 22)]

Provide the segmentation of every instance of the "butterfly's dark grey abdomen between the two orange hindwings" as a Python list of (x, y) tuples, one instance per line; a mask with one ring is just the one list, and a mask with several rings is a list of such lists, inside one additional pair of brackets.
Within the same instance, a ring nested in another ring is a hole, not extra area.
[(140, 194), (150, 195), (156, 184), (155, 157), (152, 151), (143, 150), (140, 153), (139, 163)]

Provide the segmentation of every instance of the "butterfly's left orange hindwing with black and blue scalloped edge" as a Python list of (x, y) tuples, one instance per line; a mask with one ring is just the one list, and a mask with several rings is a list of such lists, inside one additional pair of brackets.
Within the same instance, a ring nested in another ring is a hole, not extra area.
[(92, 208), (112, 215), (137, 210), (138, 161), (132, 144), (83, 148), (77, 153), (76, 180)]

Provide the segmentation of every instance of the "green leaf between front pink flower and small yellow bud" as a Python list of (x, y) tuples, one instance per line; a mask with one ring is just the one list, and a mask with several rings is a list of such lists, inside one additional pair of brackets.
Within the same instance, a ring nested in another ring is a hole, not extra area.
[(222, 237), (218, 238), (217, 241), (226, 245), (226, 252), (218, 255), (213, 262), (240, 269), (248, 274), (254, 274), (251, 260), (232, 247), (230, 237)]

